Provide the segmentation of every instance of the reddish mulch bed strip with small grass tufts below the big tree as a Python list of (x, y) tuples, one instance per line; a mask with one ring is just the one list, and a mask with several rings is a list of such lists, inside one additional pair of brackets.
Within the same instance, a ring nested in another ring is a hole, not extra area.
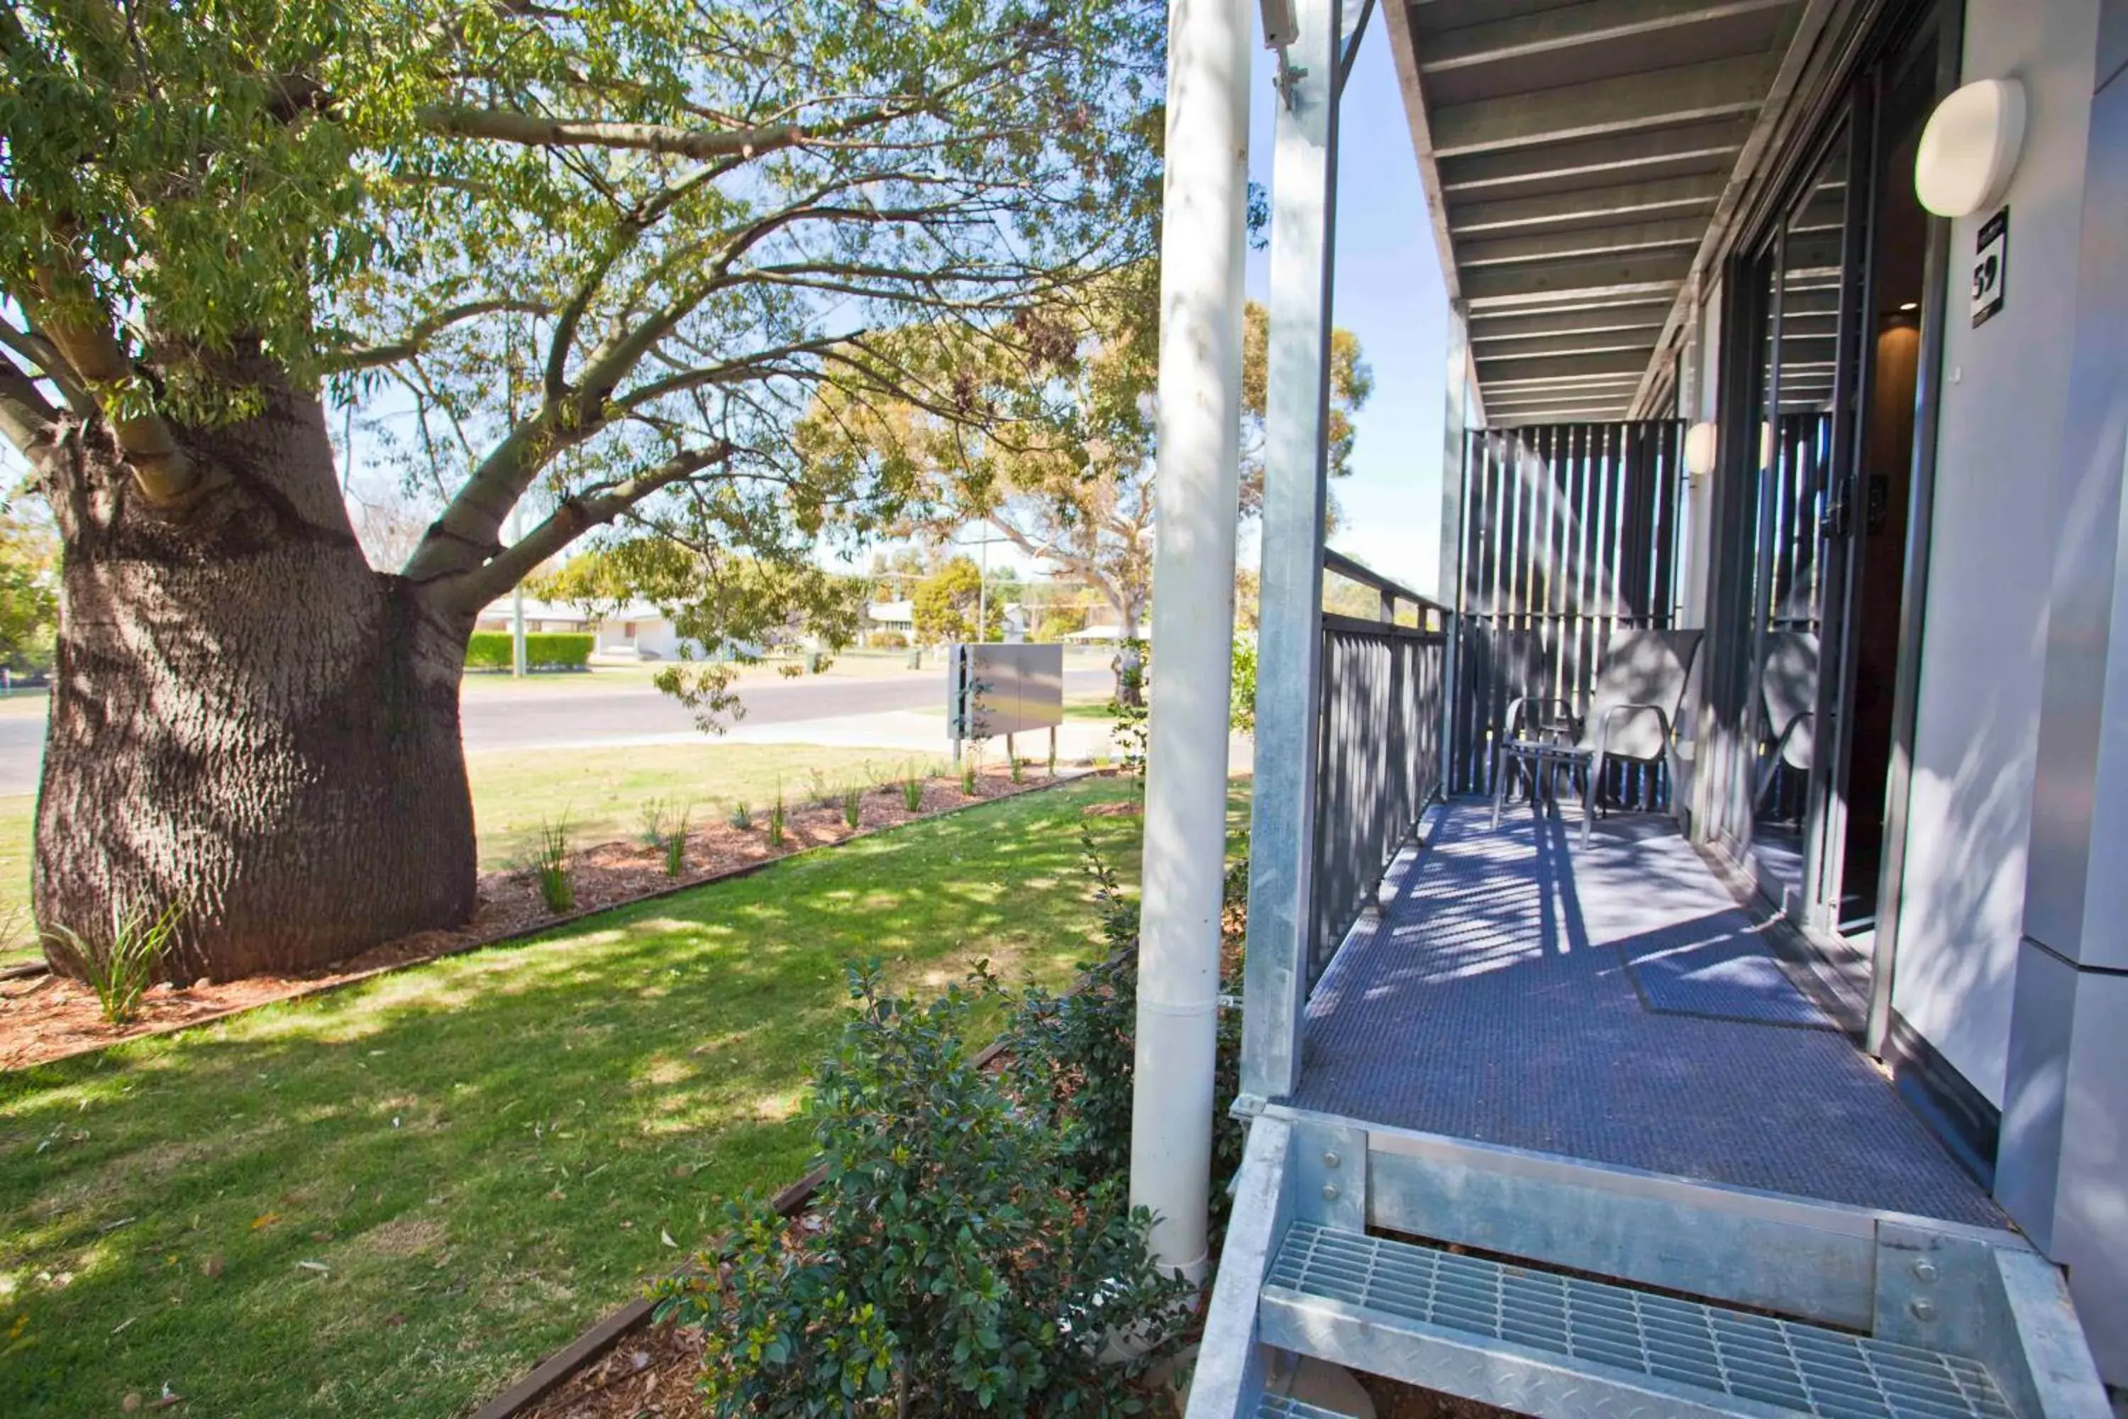
[(698, 887), (792, 853), (847, 842), (883, 828), (900, 828), (1058, 781), (1043, 770), (1032, 770), (1021, 783), (1013, 783), (1009, 770), (1000, 766), (977, 774), (975, 794), (962, 794), (958, 779), (928, 779), (921, 806), (915, 813), (904, 806), (902, 785), (885, 783), (866, 789), (855, 828), (843, 821), (841, 800), (834, 804), (794, 804), (785, 817), (781, 847), (768, 845), (766, 813), (755, 815), (749, 828), (732, 828), (726, 821), (689, 825), (687, 870), (679, 877), (666, 877), (660, 849), (641, 842), (600, 842), (570, 853), (568, 874), (577, 902), (560, 915), (547, 911), (530, 872), (483, 872), (479, 906), (472, 919), (458, 930), (400, 936), (330, 970), (155, 985), (140, 1002), (140, 1013), (121, 1028), (104, 1023), (96, 996), (79, 981), (55, 974), (4, 981), (0, 983), (0, 1070), (49, 1064), (119, 1040), (185, 1030), (275, 1000), (336, 989), (387, 970), (526, 936), (611, 906), (626, 906), (681, 887)]

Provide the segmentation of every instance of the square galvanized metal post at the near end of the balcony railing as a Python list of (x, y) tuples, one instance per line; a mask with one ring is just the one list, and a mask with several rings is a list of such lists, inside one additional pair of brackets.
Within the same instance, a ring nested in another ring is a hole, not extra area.
[[(1279, 106), (1270, 204), (1262, 611), (1241, 1089), (1300, 1081), (1315, 900), (1315, 740), (1321, 685), (1330, 423), (1330, 253), (1336, 208), (1336, 0), (1296, 0), (1294, 79)], [(1383, 619), (1394, 619), (1383, 596)]]

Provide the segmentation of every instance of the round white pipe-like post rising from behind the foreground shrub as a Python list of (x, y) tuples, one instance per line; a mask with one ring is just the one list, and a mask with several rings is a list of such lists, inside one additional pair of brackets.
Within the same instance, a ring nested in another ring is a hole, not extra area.
[[(1207, 1268), (1249, 194), (1245, 0), (1170, 0), (1160, 234), (1160, 521), (1130, 1200), (1153, 1259)], [(1130, 628), (1126, 628), (1126, 634)]]

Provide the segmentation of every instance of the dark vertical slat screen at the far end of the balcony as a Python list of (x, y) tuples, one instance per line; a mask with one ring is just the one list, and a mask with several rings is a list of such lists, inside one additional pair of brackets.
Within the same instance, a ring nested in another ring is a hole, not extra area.
[[(1462, 466), (1462, 606), (1449, 791), (1492, 791), (1492, 745), (1519, 696), (1587, 711), (1617, 630), (1677, 617), (1683, 545), (1677, 419), (1473, 430)], [(1611, 791), (1666, 791), (1619, 766)]]

